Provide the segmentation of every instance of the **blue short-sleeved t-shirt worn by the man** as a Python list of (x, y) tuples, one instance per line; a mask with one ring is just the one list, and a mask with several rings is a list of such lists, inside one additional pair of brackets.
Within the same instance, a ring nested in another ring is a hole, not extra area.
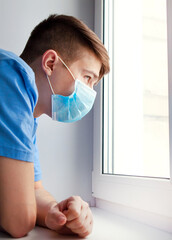
[(0, 156), (33, 162), (41, 179), (36, 145), (38, 100), (35, 75), (17, 55), (0, 49)]

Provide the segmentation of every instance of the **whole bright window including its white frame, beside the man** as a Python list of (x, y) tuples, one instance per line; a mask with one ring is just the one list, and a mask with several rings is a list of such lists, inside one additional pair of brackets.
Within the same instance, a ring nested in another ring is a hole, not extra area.
[(95, 11), (112, 71), (97, 86), (93, 196), (171, 231), (172, 1), (95, 0)]

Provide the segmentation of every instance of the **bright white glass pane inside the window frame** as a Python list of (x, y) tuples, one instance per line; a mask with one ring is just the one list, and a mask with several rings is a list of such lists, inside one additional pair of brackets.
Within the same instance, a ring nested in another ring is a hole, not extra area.
[(169, 178), (166, 1), (105, 1), (104, 43), (103, 173)]

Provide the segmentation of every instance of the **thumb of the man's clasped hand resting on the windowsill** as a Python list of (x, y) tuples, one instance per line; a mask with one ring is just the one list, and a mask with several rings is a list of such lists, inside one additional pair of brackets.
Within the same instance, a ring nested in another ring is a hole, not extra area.
[(46, 226), (56, 231), (61, 229), (65, 225), (66, 221), (66, 216), (60, 212), (57, 205), (48, 211), (48, 214), (45, 218)]

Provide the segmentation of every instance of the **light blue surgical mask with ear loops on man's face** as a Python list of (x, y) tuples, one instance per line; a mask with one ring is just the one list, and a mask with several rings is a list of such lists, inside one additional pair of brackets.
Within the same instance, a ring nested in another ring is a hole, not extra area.
[[(59, 58), (61, 61), (62, 59)], [(66, 64), (62, 61), (66, 66)], [(66, 68), (71, 73), (70, 69)], [(74, 75), (71, 73), (72, 77)], [(93, 107), (96, 91), (88, 87), (80, 80), (75, 80), (75, 90), (69, 96), (55, 94), (47, 76), (50, 88), (52, 90), (52, 119), (59, 122), (75, 122), (83, 118)], [(75, 78), (74, 78), (75, 79)]]

